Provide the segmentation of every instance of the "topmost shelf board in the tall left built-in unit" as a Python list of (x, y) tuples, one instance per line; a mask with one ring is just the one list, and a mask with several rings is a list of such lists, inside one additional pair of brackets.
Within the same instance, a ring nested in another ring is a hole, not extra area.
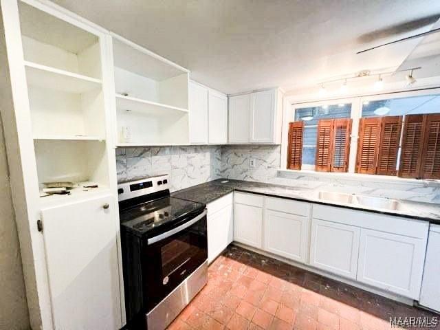
[(102, 87), (100, 79), (25, 61), (28, 85), (81, 94)]

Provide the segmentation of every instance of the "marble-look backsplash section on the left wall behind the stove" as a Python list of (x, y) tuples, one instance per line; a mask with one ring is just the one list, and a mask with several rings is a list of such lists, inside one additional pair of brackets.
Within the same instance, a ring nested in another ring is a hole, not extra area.
[(171, 190), (221, 177), (219, 146), (161, 146), (116, 149), (118, 182), (170, 175)]

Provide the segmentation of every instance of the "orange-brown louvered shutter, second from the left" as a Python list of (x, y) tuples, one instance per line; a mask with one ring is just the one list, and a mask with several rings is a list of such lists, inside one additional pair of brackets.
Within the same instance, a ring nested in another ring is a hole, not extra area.
[(316, 140), (315, 170), (329, 172), (333, 137), (333, 119), (318, 121), (318, 137)]

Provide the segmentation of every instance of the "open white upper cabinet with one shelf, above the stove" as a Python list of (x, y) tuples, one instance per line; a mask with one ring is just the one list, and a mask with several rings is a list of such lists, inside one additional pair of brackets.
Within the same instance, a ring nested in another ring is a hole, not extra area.
[(117, 146), (188, 144), (188, 70), (113, 36)]

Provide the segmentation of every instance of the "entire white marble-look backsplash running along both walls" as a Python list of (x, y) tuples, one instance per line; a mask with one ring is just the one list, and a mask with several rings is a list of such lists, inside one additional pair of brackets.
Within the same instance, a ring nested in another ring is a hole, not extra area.
[[(281, 146), (167, 146), (117, 149), (118, 181), (168, 173), (173, 191), (226, 177), (285, 186), (440, 203), (438, 181), (279, 170)], [(251, 159), (254, 166), (251, 166)]]

